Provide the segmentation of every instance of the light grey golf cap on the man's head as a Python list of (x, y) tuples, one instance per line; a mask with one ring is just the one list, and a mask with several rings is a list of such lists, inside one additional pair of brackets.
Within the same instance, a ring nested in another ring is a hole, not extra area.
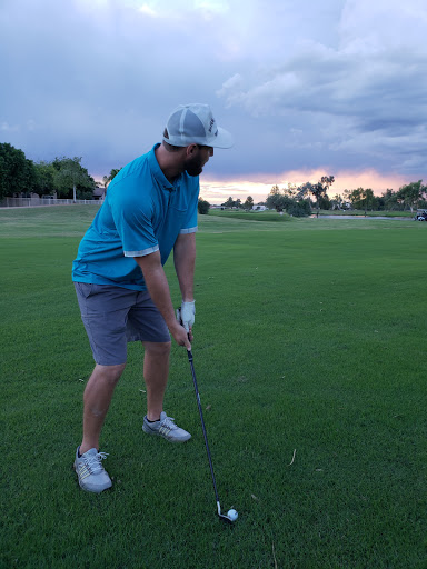
[(177, 107), (168, 119), (166, 132), (165, 142), (173, 147), (230, 148), (234, 143), (231, 134), (217, 126), (209, 104), (198, 102)]

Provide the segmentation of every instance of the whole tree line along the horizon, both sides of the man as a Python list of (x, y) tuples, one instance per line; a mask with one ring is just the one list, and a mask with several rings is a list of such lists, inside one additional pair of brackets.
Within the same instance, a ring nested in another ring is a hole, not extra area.
[[(121, 168), (112, 169), (102, 181), (108, 183), (119, 173)], [(334, 176), (324, 176), (317, 183), (305, 182), (301, 186), (288, 183), (280, 189), (274, 186), (266, 199), (266, 207), (279, 212), (286, 211), (294, 217), (311, 214), (312, 200), (319, 210), (357, 209), (367, 211), (404, 211), (414, 212), (417, 208), (427, 208), (427, 186), (423, 180), (410, 182), (399, 190), (387, 189), (381, 196), (375, 196), (370, 188), (344, 190), (329, 198), (328, 190), (335, 182)], [(57, 194), (64, 199), (91, 199), (96, 182), (81, 166), (81, 157), (56, 158), (51, 162), (33, 162), (26, 158), (22, 150), (13, 148), (7, 142), (0, 143), (0, 200), (16, 194), (39, 196)], [(254, 199), (248, 196), (245, 202), (229, 197), (221, 203), (225, 208), (241, 208), (250, 210)], [(207, 213), (210, 203), (199, 199), (199, 212)]]

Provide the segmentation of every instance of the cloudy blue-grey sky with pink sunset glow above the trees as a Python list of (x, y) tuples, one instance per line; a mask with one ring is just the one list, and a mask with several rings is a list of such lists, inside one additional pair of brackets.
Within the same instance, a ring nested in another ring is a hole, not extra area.
[(0, 142), (101, 180), (209, 103), (235, 146), (201, 196), (427, 178), (425, 0), (0, 0)]

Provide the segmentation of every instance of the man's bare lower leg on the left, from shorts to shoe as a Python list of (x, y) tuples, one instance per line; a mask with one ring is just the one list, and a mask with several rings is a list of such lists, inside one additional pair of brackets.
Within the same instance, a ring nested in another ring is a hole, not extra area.
[(120, 379), (126, 363), (118, 366), (97, 366), (85, 389), (83, 402), (83, 440), (80, 455), (87, 450), (99, 449), (99, 436), (110, 407), (115, 387)]

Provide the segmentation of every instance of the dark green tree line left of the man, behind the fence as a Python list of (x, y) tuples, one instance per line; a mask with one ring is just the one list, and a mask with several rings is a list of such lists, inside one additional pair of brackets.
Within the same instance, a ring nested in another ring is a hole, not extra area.
[[(111, 170), (103, 177), (107, 184), (120, 169)], [(33, 162), (7, 142), (0, 143), (0, 200), (16, 194), (31, 193), (53, 196), (62, 199), (92, 199), (96, 182), (81, 166), (81, 157), (56, 158), (51, 162)]]

